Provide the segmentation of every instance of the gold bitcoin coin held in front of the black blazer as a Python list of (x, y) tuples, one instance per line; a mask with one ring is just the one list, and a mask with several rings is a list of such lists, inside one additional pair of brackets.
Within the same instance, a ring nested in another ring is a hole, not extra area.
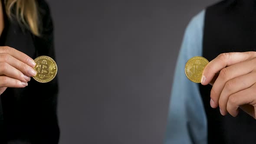
[(37, 75), (33, 76), (33, 78), (37, 82), (50, 82), (55, 78), (58, 69), (56, 62), (52, 58), (49, 56), (39, 56), (34, 61), (36, 62), (34, 69)]

